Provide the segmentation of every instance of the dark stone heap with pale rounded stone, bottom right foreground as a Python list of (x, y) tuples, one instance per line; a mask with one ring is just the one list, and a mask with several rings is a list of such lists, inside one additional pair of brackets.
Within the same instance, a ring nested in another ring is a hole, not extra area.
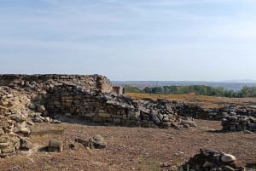
[(200, 150), (199, 154), (183, 164), (183, 170), (189, 171), (244, 171), (245, 164), (231, 154), (212, 150)]

